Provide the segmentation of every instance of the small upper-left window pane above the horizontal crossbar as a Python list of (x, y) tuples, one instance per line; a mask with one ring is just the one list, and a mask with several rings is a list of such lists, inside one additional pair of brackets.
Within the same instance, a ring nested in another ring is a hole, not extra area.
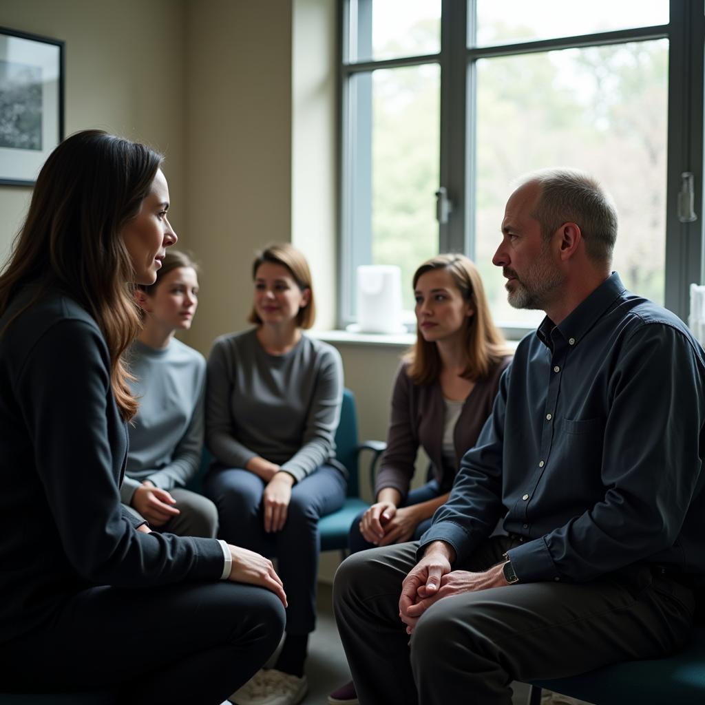
[(351, 0), (348, 61), (441, 51), (441, 0)]

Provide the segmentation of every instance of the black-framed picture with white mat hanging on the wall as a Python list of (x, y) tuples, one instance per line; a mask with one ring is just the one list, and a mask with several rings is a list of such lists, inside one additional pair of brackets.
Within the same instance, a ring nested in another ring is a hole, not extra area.
[(0, 27), (0, 184), (32, 186), (63, 139), (63, 42)]

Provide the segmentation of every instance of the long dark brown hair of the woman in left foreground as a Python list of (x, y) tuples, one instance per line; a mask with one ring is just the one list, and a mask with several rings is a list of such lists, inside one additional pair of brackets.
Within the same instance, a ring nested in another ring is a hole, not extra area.
[(135, 271), (121, 233), (140, 212), (162, 159), (102, 130), (68, 137), (39, 172), (27, 219), (0, 274), (0, 314), (33, 282), (37, 298), (58, 289), (92, 315), (105, 336), (111, 387), (125, 420), (135, 415), (137, 401), (121, 355), (140, 318), (130, 283)]

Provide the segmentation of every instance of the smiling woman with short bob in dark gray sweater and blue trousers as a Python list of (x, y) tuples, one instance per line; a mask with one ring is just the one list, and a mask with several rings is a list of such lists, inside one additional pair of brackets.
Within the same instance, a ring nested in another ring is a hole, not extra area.
[(208, 361), (206, 440), (216, 460), (205, 491), (218, 507), (223, 539), (277, 556), (289, 602), (278, 661), (233, 701), (293, 705), (307, 691), (318, 520), (345, 500), (333, 443), (343, 366), (335, 348), (302, 333), (313, 324), (314, 298), (301, 252), (270, 245), (252, 278), (256, 327), (218, 338)]

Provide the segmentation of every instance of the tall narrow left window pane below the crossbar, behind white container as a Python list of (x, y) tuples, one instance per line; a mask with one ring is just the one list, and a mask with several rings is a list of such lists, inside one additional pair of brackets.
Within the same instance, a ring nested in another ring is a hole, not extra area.
[(358, 264), (397, 264), (403, 305), (413, 308), (411, 276), (438, 252), (440, 69), (381, 69), (355, 75), (351, 87), (350, 282)]

